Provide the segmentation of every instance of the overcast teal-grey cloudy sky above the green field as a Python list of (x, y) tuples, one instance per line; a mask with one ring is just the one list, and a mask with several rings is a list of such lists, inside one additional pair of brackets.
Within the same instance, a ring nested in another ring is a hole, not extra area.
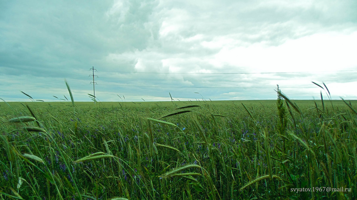
[[(357, 99), (356, 0), (0, 1), (5, 101)], [(97, 77), (96, 77), (97, 76)], [(170, 94), (169, 94), (170, 93)], [(55, 97), (54, 97), (55, 96)], [(56, 98), (57, 97), (57, 98)]]

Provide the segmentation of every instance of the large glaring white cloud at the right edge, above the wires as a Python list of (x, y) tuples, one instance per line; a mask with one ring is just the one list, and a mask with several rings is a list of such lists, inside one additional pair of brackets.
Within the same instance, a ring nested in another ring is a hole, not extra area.
[[(249, 72), (297, 72), (351, 69), (356, 66), (357, 32), (314, 34), (280, 46), (253, 44), (225, 48), (211, 62), (244, 67)], [(264, 70), (262, 70), (264, 69)]]

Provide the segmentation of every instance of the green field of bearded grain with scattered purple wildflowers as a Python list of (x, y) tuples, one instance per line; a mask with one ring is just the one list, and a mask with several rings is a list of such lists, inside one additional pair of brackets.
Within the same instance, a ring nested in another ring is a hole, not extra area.
[(357, 101), (280, 99), (1, 102), (0, 199), (356, 199)]

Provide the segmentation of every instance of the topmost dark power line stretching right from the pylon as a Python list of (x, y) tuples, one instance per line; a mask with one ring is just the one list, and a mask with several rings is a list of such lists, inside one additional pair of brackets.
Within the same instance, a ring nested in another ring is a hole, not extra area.
[[(336, 70), (317, 72), (355, 72), (357, 70)], [(103, 71), (108, 72), (108, 71)], [(113, 72), (110, 72), (113, 73)], [(287, 73), (316, 73), (316, 72), (253, 72), (253, 73), (174, 73), (174, 72), (116, 72), (116, 73), (141, 73), (141, 74), (287, 74)]]

